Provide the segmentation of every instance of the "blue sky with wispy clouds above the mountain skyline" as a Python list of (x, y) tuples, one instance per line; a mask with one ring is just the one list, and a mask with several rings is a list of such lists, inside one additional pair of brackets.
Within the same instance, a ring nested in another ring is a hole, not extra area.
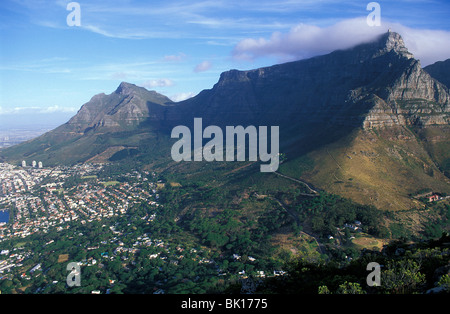
[[(54, 115), (65, 122), (122, 81), (181, 100), (212, 88), (229, 69), (252, 69), (325, 54), (399, 32), (422, 65), (450, 58), (449, 1), (0, 2), (0, 117)], [(0, 120), (1, 122), (2, 120)]]

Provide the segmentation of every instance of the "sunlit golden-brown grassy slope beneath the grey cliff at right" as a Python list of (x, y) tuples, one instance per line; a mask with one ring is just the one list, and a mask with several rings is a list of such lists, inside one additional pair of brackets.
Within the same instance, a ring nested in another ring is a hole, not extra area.
[(448, 166), (446, 156), (450, 147), (446, 128), (420, 132), (417, 135), (407, 128), (356, 130), (348, 137), (286, 162), (280, 172), (380, 209), (422, 207), (411, 194), (423, 189), (450, 193), (450, 180), (441, 170)]

